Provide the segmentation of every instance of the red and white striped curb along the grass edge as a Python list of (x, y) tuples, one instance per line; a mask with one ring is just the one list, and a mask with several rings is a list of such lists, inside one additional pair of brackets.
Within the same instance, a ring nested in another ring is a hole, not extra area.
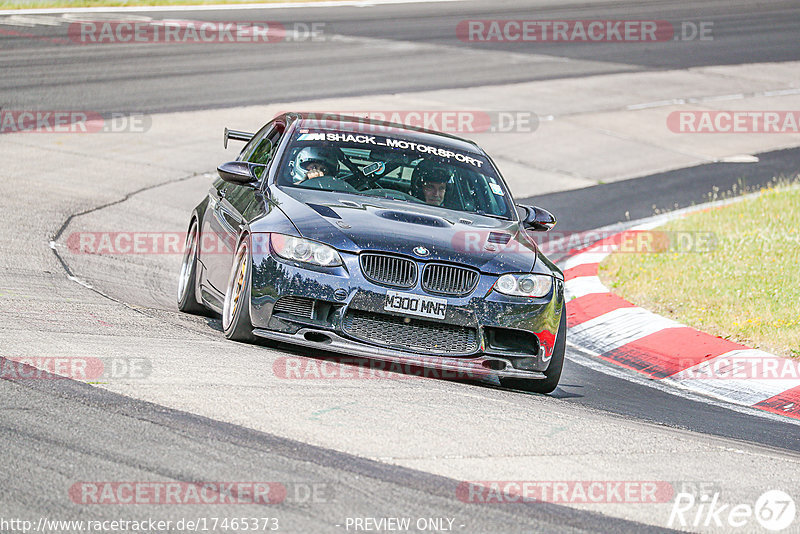
[[(649, 230), (664, 220), (628, 231)], [(800, 419), (800, 361), (700, 332), (635, 306), (603, 285), (598, 266), (629, 238), (626, 232), (560, 262), (570, 342), (664, 384)]]

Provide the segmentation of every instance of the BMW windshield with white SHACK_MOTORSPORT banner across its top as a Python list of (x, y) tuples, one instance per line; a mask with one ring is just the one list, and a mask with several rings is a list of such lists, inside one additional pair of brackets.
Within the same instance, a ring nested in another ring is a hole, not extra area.
[(277, 182), (513, 217), (505, 184), (484, 156), (402, 138), (300, 129)]

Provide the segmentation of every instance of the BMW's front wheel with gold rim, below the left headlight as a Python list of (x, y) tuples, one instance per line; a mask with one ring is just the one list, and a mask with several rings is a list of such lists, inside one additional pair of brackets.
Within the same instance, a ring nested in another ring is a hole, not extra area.
[(250, 239), (245, 236), (236, 249), (222, 309), (222, 330), (225, 332), (225, 337), (233, 341), (245, 343), (256, 341), (253, 324), (250, 322), (252, 266)]

